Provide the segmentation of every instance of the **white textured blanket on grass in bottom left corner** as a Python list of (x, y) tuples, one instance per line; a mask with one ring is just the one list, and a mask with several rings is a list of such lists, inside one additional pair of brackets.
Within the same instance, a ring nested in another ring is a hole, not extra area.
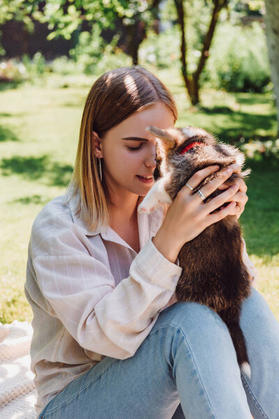
[(36, 419), (36, 390), (30, 370), (32, 327), (0, 323), (0, 419)]

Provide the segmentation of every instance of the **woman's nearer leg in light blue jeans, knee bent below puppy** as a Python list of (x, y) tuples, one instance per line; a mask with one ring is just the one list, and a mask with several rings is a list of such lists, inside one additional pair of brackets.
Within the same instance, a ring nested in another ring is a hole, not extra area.
[(250, 419), (225, 323), (208, 307), (163, 310), (133, 357), (105, 358), (56, 395), (45, 419)]

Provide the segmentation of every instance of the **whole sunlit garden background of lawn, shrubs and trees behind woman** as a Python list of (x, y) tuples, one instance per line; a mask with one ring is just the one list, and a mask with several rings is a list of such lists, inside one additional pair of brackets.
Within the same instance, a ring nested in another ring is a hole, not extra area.
[[(172, 91), (179, 108), (176, 126), (200, 126), (246, 153), (252, 172), (240, 222), (259, 274), (255, 287), (279, 320), (279, 140), (264, 1), (84, 1), (82, 9), (79, 4), (0, 0), (0, 322), (32, 319), (24, 296), (31, 226), (68, 185), (91, 84), (105, 71), (135, 61)], [(217, 24), (205, 45), (216, 5)], [(17, 36), (15, 53), (5, 50), (14, 22), (27, 34)], [(32, 31), (38, 25), (47, 27), (47, 38), (36, 50)], [(52, 45), (66, 50), (61, 54)], [(203, 57), (197, 102), (191, 83)]]

